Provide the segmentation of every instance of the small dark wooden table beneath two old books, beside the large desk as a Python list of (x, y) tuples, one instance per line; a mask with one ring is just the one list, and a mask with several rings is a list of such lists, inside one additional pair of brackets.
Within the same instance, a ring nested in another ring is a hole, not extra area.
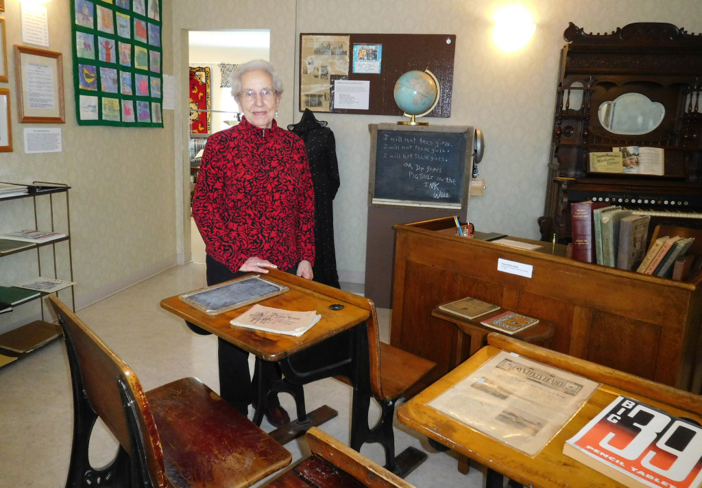
[[(449, 302), (446, 302), (449, 303)], [(485, 327), (480, 322), (486, 318), (492, 317), (494, 315), (501, 314), (505, 312), (504, 308), (491, 312), (489, 314), (481, 315), (480, 317), (475, 317), (475, 319), (466, 319), (464, 317), (458, 317), (449, 312), (441, 310), (439, 307), (432, 310), (432, 316), (439, 319), (444, 319), (448, 322), (453, 322), (456, 327), (463, 332), (463, 334), (458, 334), (458, 339), (456, 341), (456, 350), (453, 354), (453, 364), (451, 364), (451, 369), (461, 364), (463, 361), (467, 360), (468, 357), (474, 355), (480, 348), (486, 345), (486, 337), (491, 332), (497, 332), (495, 329), (490, 327)], [(523, 331), (519, 331), (512, 337), (519, 339), (519, 341), (528, 342), (530, 344), (541, 345), (544, 348), (550, 348), (551, 338), (555, 333), (555, 326), (551, 322), (545, 322), (539, 320), (538, 324), (534, 324), (531, 327), (527, 327)], [(463, 338), (464, 336), (470, 337), (470, 349), (468, 350), (468, 355), (463, 353)]]

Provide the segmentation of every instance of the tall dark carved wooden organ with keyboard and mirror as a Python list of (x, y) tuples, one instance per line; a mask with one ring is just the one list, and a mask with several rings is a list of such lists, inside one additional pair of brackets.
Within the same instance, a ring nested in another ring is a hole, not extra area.
[[(701, 227), (702, 35), (657, 22), (586, 34), (571, 22), (564, 39), (541, 238), (569, 242), (570, 204), (587, 199), (651, 215), (651, 230)], [(625, 98), (662, 113), (647, 124), (637, 105), (633, 128), (613, 127), (612, 112)], [(625, 146), (663, 148), (663, 175), (590, 171), (590, 152)]]

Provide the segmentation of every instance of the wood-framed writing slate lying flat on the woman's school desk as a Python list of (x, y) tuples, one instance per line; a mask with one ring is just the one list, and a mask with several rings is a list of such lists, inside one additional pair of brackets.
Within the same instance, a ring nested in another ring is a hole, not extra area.
[(207, 315), (217, 315), (288, 290), (289, 288), (285, 285), (270, 282), (256, 275), (190, 291), (178, 298)]

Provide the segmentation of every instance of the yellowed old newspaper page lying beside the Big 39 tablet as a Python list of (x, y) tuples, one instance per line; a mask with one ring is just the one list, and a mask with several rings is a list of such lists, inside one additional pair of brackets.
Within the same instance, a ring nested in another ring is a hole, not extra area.
[(429, 406), (535, 456), (598, 383), (501, 351)]

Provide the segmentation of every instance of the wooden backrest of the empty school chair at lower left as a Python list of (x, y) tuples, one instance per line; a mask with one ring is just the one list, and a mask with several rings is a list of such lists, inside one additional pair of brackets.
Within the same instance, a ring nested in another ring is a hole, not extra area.
[[(71, 374), (81, 376), (85, 388), (83, 394), (95, 414), (117, 438), (121, 447), (133, 456), (134, 440), (130, 438), (131, 430), (123, 407), (123, 391), (126, 390), (135, 405), (133, 411), (138, 420), (140, 441), (143, 443), (146, 467), (152, 483), (154, 486), (167, 486), (161, 440), (139, 378), (58, 297), (49, 296), (48, 299), (59, 317), (67, 344), (70, 342), (72, 345), (67, 348), (69, 354), (74, 352), (77, 355), (77, 363), (70, 361)], [(83, 367), (74, 371), (74, 366), (78, 364)]]

